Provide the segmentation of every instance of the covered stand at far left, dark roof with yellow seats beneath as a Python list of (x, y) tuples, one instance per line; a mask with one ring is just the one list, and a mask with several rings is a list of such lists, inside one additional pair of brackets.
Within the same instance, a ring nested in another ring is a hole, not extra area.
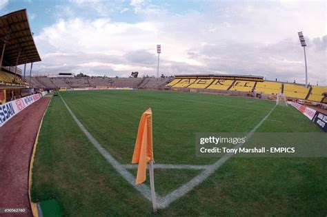
[(34, 44), (26, 9), (11, 12), (0, 17), (0, 84), (26, 86), (22, 72), (17, 65), (41, 61)]

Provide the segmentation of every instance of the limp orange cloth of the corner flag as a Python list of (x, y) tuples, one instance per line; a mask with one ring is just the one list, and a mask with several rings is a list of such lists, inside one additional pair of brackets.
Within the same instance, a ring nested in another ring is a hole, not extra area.
[(152, 150), (152, 111), (149, 108), (141, 116), (139, 131), (135, 143), (132, 163), (139, 163), (137, 168), (136, 184), (139, 185), (146, 180), (146, 166), (153, 160)]

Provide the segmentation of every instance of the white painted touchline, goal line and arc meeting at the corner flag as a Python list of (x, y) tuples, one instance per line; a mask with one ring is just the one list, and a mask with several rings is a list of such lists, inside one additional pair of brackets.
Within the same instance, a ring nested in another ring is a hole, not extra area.
[[(59, 94), (59, 96), (60, 96), (61, 100), (63, 101), (63, 103), (66, 105), (66, 108), (67, 108), (68, 112), (70, 112), (70, 114), (72, 115), (72, 118), (74, 118), (74, 120), (76, 121), (79, 128), (83, 131), (84, 134), (86, 134), (86, 136), (88, 137), (90, 142), (93, 145), (95, 145), (95, 147), (98, 149), (100, 154), (102, 154), (102, 156), (104, 158), (106, 158), (108, 163), (110, 163), (112, 165), (112, 167), (114, 167), (117, 170), (117, 172), (119, 172), (119, 174), (121, 174), (121, 176), (123, 176), (123, 178), (125, 178), (128, 181), (128, 183), (130, 183), (130, 185), (135, 187), (135, 189), (137, 189), (137, 191), (139, 191), (145, 198), (147, 198), (148, 200), (151, 201), (150, 188), (147, 187), (144, 184), (135, 185), (134, 176), (132, 176), (132, 174), (130, 174), (130, 172), (128, 172), (128, 170), (127, 170), (127, 169), (133, 169), (136, 165), (135, 166), (134, 165), (121, 165), (118, 161), (116, 161), (116, 159), (114, 157), (112, 157), (106, 151), (106, 149), (103, 149), (103, 147), (100, 145), (100, 143), (90, 134), (90, 132), (88, 132), (88, 130), (86, 130), (86, 128), (82, 125), (82, 123), (77, 119), (75, 114), (72, 113), (72, 110), (70, 110), (70, 108), (68, 107), (66, 102), (63, 100), (63, 98), (61, 97), (61, 94)], [(266, 121), (266, 119), (271, 114), (271, 112), (273, 112), (273, 110), (275, 109), (276, 106), (277, 105), (275, 105), (273, 107), (273, 109), (270, 110), (270, 112), (268, 112), (268, 114), (264, 118), (262, 118), (262, 120), (247, 134), (246, 141), (261, 126), (261, 124), (264, 123), (264, 121)], [(244, 145), (244, 143), (236, 145), (235, 148), (239, 148), (242, 145)], [(199, 185), (204, 180), (206, 180), (206, 178), (208, 178), (212, 173), (214, 173), (219, 167), (221, 167), (221, 165), (224, 165), (224, 163), (232, 155), (233, 154), (225, 154), (224, 156), (219, 158), (219, 160), (216, 163), (214, 163), (212, 165), (167, 165), (167, 166), (166, 165), (159, 165), (159, 167), (162, 167), (162, 168), (170, 167), (171, 169), (181, 169), (181, 167), (184, 167), (185, 169), (192, 169), (192, 168), (190, 168), (190, 166), (192, 166), (193, 168), (203, 167), (201, 169), (204, 169), (204, 172), (201, 172), (201, 174), (195, 176), (195, 178), (192, 178), (185, 185), (179, 187), (178, 189), (175, 189), (174, 191), (170, 192), (169, 194), (166, 194), (166, 196), (159, 196), (159, 195), (156, 194), (157, 208), (158, 209), (164, 209), (164, 208), (168, 207), (170, 205), (170, 203), (172, 203), (173, 201), (177, 200), (181, 196), (184, 196), (185, 194), (190, 192), (193, 188), (195, 188), (197, 185)], [(159, 167), (157, 167), (157, 168), (159, 168)], [(175, 168), (173, 168), (173, 167), (175, 167)]]

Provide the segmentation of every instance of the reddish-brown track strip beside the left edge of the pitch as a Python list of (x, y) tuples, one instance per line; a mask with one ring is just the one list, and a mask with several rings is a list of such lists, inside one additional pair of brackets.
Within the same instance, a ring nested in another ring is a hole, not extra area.
[(50, 98), (41, 98), (0, 127), (0, 207), (26, 208), (30, 156)]

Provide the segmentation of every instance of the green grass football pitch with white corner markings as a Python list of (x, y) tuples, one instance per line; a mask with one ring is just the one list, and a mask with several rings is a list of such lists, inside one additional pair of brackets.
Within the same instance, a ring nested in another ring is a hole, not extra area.
[[(32, 200), (54, 198), (68, 216), (151, 215), (152, 205), (106, 161), (63, 100), (119, 165), (130, 164), (139, 118), (151, 107), (155, 163), (200, 168), (155, 169), (161, 196), (199, 176), (201, 166), (219, 160), (195, 156), (197, 132), (321, 132), (293, 107), (275, 107), (274, 101), (168, 91), (60, 92), (43, 118)], [(158, 214), (324, 216), (326, 163), (326, 158), (230, 158)], [(136, 175), (136, 168), (126, 169)]]

